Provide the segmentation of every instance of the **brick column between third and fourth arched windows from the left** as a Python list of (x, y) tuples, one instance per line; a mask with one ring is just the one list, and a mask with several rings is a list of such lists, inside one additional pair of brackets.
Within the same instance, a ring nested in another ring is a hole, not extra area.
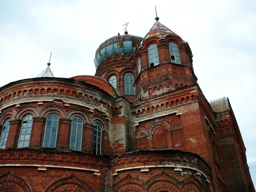
[(69, 149), (71, 119), (59, 119), (56, 148)]

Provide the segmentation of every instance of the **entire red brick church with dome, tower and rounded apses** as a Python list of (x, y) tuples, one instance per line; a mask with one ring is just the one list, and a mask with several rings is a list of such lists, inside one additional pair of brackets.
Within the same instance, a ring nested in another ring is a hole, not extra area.
[(158, 20), (103, 42), (95, 76), (48, 63), (0, 88), (0, 192), (255, 192), (228, 98), (206, 100)]

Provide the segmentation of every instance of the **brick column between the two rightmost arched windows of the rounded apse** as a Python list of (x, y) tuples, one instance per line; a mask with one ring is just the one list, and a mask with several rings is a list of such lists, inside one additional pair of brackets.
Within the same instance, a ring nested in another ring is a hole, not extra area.
[(83, 124), (82, 151), (86, 153), (92, 153), (93, 130), (93, 124)]

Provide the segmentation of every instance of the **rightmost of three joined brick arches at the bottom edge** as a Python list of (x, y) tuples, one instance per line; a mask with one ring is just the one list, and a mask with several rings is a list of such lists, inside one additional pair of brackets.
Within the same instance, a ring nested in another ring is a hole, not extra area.
[(189, 175), (188, 177), (181, 180), (180, 183), (181, 192), (200, 192), (201, 183), (195, 178), (194, 175)]

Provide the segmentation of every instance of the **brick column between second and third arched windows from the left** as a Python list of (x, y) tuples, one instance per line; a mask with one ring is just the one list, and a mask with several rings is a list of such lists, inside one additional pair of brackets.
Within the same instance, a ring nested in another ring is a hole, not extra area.
[(33, 125), (29, 147), (42, 147), (42, 134), (44, 133), (44, 117), (33, 117)]

